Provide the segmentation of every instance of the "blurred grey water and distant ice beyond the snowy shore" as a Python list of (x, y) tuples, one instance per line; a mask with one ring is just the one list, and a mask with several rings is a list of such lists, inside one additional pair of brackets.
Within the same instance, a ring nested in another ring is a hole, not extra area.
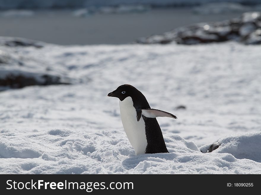
[(125, 44), (260, 10), (260, 0), (0, 0), (0, 36), (61, 45)]

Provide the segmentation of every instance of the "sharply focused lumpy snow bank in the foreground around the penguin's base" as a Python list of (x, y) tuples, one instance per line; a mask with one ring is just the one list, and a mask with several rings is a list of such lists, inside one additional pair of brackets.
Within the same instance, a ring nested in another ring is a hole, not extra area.
[(170, 153), (135, 156), (122, 131), (3, 133), (0, 157), (5, 160), (0, 158), (0, 169), (2, 174), (261, 173), (261, 164), (255, 161), (227, 153), (204, 154), (178, 135), (164, 137)]

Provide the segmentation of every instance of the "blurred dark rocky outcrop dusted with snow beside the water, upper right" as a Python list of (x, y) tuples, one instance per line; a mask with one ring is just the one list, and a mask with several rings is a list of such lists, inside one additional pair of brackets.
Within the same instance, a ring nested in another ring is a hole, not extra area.
[(248, 44), (260, 44), (261, 12), (246, 12), (240, 18), (222, 22), (197, 23), (179, 27), (160, 35), (141, 38), (137, 43), (199, 44), (234, 40)]

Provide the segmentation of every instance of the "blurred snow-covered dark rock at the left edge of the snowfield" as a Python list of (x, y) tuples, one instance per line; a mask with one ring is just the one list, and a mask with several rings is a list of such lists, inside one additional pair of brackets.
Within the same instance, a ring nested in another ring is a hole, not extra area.
[(59, 70), (52, 70), (50, 64), (44, 64), (34, 56), (29, 57), (26, 52), (19, 52), (22, 51), (21, 47), (40, 49), (44, 47), (44, 44), (23, 38), (0, 37), (0, 91), (30, 85), (70, 83), (66, 74)]

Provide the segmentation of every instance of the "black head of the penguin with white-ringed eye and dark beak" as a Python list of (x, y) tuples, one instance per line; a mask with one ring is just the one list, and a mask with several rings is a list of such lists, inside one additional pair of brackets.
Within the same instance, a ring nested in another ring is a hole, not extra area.
[(120, 101), (123, 101), (126, 97), (131, 97), (139, 92), (138, 89), (133, 87), (132, 85), (120, 85), (116, 90), (112, 91), (108, 94), (109, 97), (117, 97)]

